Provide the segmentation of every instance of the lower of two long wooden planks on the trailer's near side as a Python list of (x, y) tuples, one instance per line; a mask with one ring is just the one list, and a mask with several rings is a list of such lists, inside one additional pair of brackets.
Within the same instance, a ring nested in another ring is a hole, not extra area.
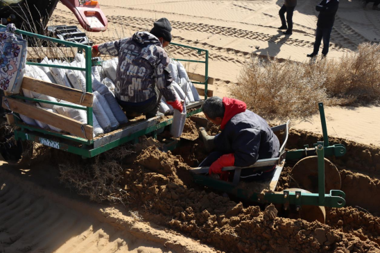
[[(91, 125), (80, 123), (79, 121), (70, 119), (67, 116), (62, 116), (54, 112), (46, 111), (34, 105), (29, 105), (27, 103), (21, 102), (15, 98), (3, 97), (2, 105), (3, 108), (8, 108), (7, 105), (9, 105), (12, 112), (24, 114), (32, 119), (37, 119), (37, 121), (42, 121), (48, 125), (53, 125), (55, 128), (60, 128), (78, 137), (93, 139), (93, 129)], [(83, 132), (82, 128), (85, 130), (85, 132)]]

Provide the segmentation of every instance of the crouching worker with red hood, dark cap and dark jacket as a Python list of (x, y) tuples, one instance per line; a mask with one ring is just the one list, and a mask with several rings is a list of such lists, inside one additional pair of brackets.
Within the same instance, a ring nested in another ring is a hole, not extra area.
[[(200, 133), (211, 154), (199, 165), (210, 166), (209, 175), (221, 175), (227, 180), (228, 174), (222, 173), (227, 166), (245, 167), (258, 159), (278, 157), (279, 140), (261, 116), (246, 110), (243, 101), (233, 98), (211, 97), (205, 101), (202, 111), (206, 118), (220, 125), (222, 132), (215, 137), (207, 135), (205, 129)], [(242, 170), (241, 177), (246, 180), (265, 180), (273, 177), (274, 167), (261, 170), (253, 168)]]

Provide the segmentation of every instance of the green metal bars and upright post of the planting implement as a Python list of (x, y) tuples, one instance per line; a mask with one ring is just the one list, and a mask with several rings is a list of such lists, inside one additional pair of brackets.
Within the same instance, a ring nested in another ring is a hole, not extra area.
[(251, 200), (253, 202), (261, 203), (276, 203), (276, 204), (289, 204), (295, 205), (297, 208), (302, 205), (316, 205), (324, 207), (344, 207), (345, 206), (345, 193), (339, 190), (331, 190), (325, 193), (325, 156), (340, 157), (345, 155), (345, 146), (336, 144), (329, 146), (327, 127), (325, 121), (325, 112), (323, 104), (319, 103), (320, 117), (322, 123), (323, 141), (318, 141), (314, 144), (314, 148), (305, 146), (304, 149), (286, 151), (286, 159), (302, 159), (310, 155), (317, 155), (318, 157), (318, 193), (303, 193), (301, 191), (283, 191), (283, 192), (268, 192), (268, 193), (252, 193), (246, 189), (241, 189), (234, 186), (231, 182), (224, 182), (216, 180), (200, 174), (193, 174), (194, 182), (207, 186), (211, 189), (223, 191), (236, 195), (238, 198)]

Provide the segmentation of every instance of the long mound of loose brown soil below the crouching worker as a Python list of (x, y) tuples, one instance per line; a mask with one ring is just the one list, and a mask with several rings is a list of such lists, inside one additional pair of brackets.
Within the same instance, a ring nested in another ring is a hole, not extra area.
[[(126, 170), (123, 184), (129, 194), (128, 201), (146, 220), (169, 226), (226, 252), (377, 252), (380, 249), (377, 241), (372, 240), (374, 236), (365, 238), (363, 233), (351, 234), (336, 227), (340, 223), (332, 220), (332, 215), (331, 225), (279, 218), (272, 205), (264, 211), (254, 206), (245, 208), (221, 195), (191, 188), (173, 176), (171, 164), (175, 159), (178, 157), (170, 153), (148, 148), (139, 155), (137, 167)], [(141, 165), (150, 169), (155, 166), (153, 170), (162, 174), (146, 171)], [(178, 165), (188, 168), (180, 162)]]

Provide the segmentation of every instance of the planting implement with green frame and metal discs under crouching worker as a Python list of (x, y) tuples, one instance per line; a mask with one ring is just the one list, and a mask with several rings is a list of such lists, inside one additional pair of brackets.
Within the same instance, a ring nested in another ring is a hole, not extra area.
[[(340, 191), (339, 171), (325, 157), (343, 156), (346, 149), (342, 144), (329, 144), (322, 103), (319, 103), (319, 110), (323, 141), (318, 141), (313, 147), (306, 145), (302, 149), (286, 150), (290, 121), (272, 128), (273, 132), (282, 132), (279, 157), (260, 159), (252, 166), (245, 167), (254, 168), (257, 173), (261, 173), (263, 170), (268, 170), (268, 166), (276, 166), (275, 174), (270, 180), (247, 183), (241, 178), (241, 171), (245, 168), (225, 167), (223, 171), (232, 172), (233, 180), (232, 182), (224, 182), (207, 176), (209, 167), (200, 167), (191, 171), (195, 182), (210, 189), (229, 193), (248, 202), (273, 203), (282, 216), (302, 218), (308, 221), (318, 220), (325, 223), (325, 207), (345, 206), (345, 193)], [(202, 119), (195, 120), (198, 123), (202, 121)], [(275, 191), (286, 160), (296, 162), (291, 170), (291, 178), (297, 188)]]

